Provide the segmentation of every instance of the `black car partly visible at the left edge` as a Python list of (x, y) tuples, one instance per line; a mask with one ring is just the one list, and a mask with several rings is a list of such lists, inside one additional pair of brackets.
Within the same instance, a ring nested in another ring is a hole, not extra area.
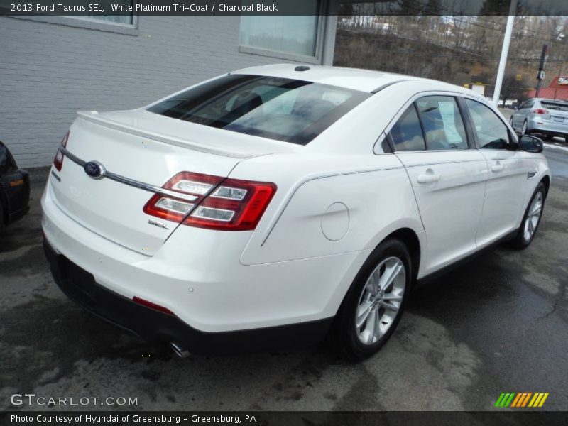
[(0, 142), (0, 233), (28, 212), (29, 200), (28, 172), (18, 169), (8, 148)]

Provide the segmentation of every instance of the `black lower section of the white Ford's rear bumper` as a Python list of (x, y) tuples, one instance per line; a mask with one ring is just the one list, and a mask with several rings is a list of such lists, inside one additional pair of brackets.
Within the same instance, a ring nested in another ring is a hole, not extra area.
[(314, 344), (324, 339), (333, 321), (327, 318), (263, 329), (200, 332), (175, 315), (138, 305), (97, 284), (91, 273), (56, 253), (45, 239), (43, 249), (55, 283), (77, 305), (143, 339), (173, 342), (196, 354), (234, 354)]

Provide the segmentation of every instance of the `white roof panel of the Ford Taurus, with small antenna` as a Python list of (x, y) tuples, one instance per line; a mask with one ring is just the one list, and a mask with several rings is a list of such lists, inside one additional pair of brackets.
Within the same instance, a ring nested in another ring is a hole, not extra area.
[(410, 75), (394, 74), (373, 70), (361, 70), (357, 68), (327, 67), (323, 65), (300, 65), (308, 67), (307, 70), (296, 71), (300, 64), (263, 65), (259, 67), (244, 68), (235, 71), (234, 74), (267, 75), (271, 77), (283, 77), (295, 80), (329, 84), (332, 86), (345, 87), (346, 89), (359, 90), (361, 92), (374, 92), (376, 89), (403, 81), (424, 81), (439, 83), (444, 86), (459, 88), (453, 84), (437, 82)]

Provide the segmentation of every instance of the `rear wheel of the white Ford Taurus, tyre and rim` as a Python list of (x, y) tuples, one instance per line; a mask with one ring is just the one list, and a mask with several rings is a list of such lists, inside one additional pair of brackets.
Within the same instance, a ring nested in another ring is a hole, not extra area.
[(408, 297), (412, 269), (403, 241), (383, 241), (367, 258), (345, 296), (334, 325), (349, 359), (376, 354), (393, 334)]

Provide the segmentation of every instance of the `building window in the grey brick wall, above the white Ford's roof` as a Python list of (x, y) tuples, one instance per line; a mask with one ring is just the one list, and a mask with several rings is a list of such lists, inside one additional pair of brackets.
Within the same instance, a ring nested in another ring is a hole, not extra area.
[(311, 16), (241, 16), (241, 46), (294, 55), (316, 55), (320, 2)]

